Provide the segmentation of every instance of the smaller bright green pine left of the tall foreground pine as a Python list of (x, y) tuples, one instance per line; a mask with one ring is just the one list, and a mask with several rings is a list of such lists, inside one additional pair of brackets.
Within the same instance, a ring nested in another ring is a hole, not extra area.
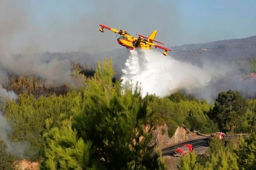
[(92, 143), (77, 139), (77, 132), (71, 127), (71, 118), (58, 121), (54, 127), (52, 123), (51, 118), (47, 119), (41, 169), (97, 169), (90, 159)]

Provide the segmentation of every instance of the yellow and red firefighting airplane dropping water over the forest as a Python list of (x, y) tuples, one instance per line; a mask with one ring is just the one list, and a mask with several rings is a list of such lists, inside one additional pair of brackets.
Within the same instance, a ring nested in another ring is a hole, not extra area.
[(121, 46), (124, 46), (126, 48), (130, 48), (131, 50), (133, 50), (134, 48), (141, 48), (141, 49), (150, 49), (151, 46), (154, 46), (155, 48), (161, 48), (161, 49), (164, 49), (164, 52), (163, 52), (163, 55), (167, 56), (167, 51), (172, 51), (171, 49), (169, 48), (166, 48), (166, 47), (162, 47), (162, 46), (159, 46), (155, 43), (153, 43), (154, 41), (156, 43), (159, 43), (159, 44), (163, 44), (159, 41), (156, 41), (155, 40), (155, 37), (156, 37), (156, 34), (157, 34), (157, 30), (154, 30), (149, 37), (145, 37), (145, 36), (142, 36), (142, 35), (138, 35), (138, 38), (136, 37), (133, 37), (130, 35), (130, 33), (128, 33), (127, 31), (125, 30), (117, 30), (115, 28), (110, 28), (104, 24), (100, 24), (100, 32), (104, 32), (104, 28), (110, 30), (110, 31), (113, 31), (119, 35), (121, 35), (119, 38), (117, 38), (117, 42), (119, 45)]

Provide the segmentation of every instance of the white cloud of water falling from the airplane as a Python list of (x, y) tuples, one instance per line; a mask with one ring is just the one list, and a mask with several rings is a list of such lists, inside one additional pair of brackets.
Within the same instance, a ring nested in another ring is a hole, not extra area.
[(212, 101), (218, 92), (205, 88), (212, 82), (234, 73), (234, 67), (206, 62), (203, 67), (199, 67), (174, 60), (171, 56), (166, 57), (154, 50), (133, 50), (122, 71), (122, 86), (129, 83), (134, 87), (136, 82), (139, 82), (142, 97), (145, 97), (147, 92), (165, 97), (182, 89)]

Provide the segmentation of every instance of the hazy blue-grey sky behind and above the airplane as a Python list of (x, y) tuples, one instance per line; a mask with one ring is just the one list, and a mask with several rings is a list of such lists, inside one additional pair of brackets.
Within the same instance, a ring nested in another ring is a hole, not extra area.
[(30, 23), (27, 32), (34, 32), (38, 46), (50, 51), (119, 47), (114, 33), (98, 31), (100, 23), (119, 25), (134, 35), (138, 31), (148, 36), (156, 29), (156, 39), (166, 46), (250, 37), (256, 35), (255, 6), (253, 0), (25, 0), (23, 4)]

